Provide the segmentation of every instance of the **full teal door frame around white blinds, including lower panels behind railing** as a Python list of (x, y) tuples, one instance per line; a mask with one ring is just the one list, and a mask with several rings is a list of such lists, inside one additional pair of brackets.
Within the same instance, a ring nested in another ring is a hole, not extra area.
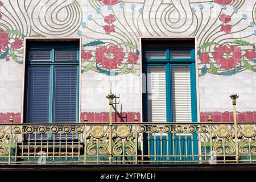
[[(145, 51), (147, 50), (166, 50), (166, 58), (165, 59), (146, 59), (145, 57)], [(171, 58), (170, 52), (172, 50), (185, 50), (185, 51), (190, 51), (190, 58)], [(166, 68), (166, 118), (167, 118), (167, 123), (172, 123), (173, 118), (172, 118), (172, 82), (171, 82), (171, 75), (172, 75), (172, 67), (177, 66), (177, 65), (188, 65), (189, 66), (189, 71), (190, 71), (190, 81), (191, 81), (191, 119), (192, 119), (192, 123), (197, 123), (197, 94), (196, 94), (196, 64), (195, 64), (195, 49), (193, 48), (145, 48), (142, 49), (142, 73), (147, 75), (147, 66), (165, 66)], [(146, 76), (147, 79), (147, 76)], [(146, 93), (142, 93), (142, 118), (143, 121), (147, 121), (147, 81), (146, 81)], [(180, 123), (181, 124), (181, 123)], [(171, 127), (173, 127), (173, 125), (170, 125)], [(196, 125), (195, 125), (196, 126)], [(197, 126), (196, 126), (197, 127)], [(144, 134), (144, 138), (147, 138), (148, 134)], [(172, 133), (168, 134), (168, 138), (172, 138)], [(193, 133), (192, 134), (194, 140), (193, 140), (193, 151), (192, 148), (186, 148), (183, 144), (181, 144), (181, 149), (182, 151), (187, 150), (188, 154), (193, 152), (194, 155), (199, 154), (199, 150), (198, 150), (198, 145), (199, 143), (197, 143), (197, 140), (195, 138), (197, 138), (197, 133)], [(179, 138), (179, 136), (175, 135), (174, 136), (174, 142), (175, 142), (175, 148), (179, 148), (179, 141), (181, 139), (181, 143), (184, 142), (185, 137), (181, 136), (181, 138)], [(144, 146), (150, 147), (150, 150), (147, 151), (145, 150), (144, 153), (148, 154), (148, 152), (150, 152), (150, 154), (148, 155), (154, 155), (155, 151), (153, 150), (154, 148), (154, 141), (159, 141), (159, 140), (166, 140), (165, 136), (162, 136), (162, 139), (160, 136), (150, 136), (150, 146), (148, 146), (148, 143), (146, 142), (146, 140), (144, 141)], [(191, 140), (191, 136), (187, 136), (187, 140)], [(169, 140), (170, 142), (171, 140)], [(156, 147), (160, 147), (160, 143), (156, 142)], [(186, 160), (184, 159), (184, 157), (181, 157), (181, 159), (179, 158), (179, 151), (175, 151), (175, 153), (173, 154), (173, 144), (172, 142), (169, 144), (169, 155), (176, 155), (175, 157), (169, 157), (169, 160)], [(166, 147), (163, 147), (163, 151), (167, 151)], [(157, 152), (156, 152), (157, 153)], [(159, 155), (159, 154), (158, 154)], [(184, 155), (184, 154), (183, 154)], [(189, 157), (191, 158), (191, 157)], [(160, 158), (157, 157), (156, 160), (166, 160), (167, 157), (164, 158)], [(155, 160), (154, 157), (150, 157), (150, 160)], [(192, 160), (192, 159), (191, 159)], [(196, 161), (199, 160), (198, 157), (195, 157), (195, 162), (193, 163), (197, 163)], [(155, 162), (151, 162), (151, 163), (155, 163)], [(173, 164), (171, 162), (171, 164)]]

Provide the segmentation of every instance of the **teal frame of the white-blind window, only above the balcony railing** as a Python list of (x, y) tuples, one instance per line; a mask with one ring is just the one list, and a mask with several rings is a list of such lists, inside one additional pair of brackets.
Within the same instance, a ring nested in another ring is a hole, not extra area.
[[(165, 59), (146, 59), (145, 52), (148, 50), (166, 50)], [(190, 58), (171, 58), (170, 52), (173, 50), (190, 51)], [(192, 48), (147, 48), (142, 50), (142, 73), (147, 75), (147, 66), (165, 66), (166, 68), (166, 118), (167, 122), (173, 122), (172, 118), (172, 83), (171, 83), (171, 68), (177, 65), (187, 65), (190, 71), (191, 81), (191, 119), (192, 122), (197, 122), (197, 96), (196, 96), (196, 65), (195, 65), (195, 49)], [(143, 93), (143, 121), (147, 121), (147, 82), (146, 93)]]

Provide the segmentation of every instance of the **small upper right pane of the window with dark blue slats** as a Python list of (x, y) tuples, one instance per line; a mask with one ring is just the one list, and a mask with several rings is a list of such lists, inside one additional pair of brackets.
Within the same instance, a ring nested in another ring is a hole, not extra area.
[(56, 61), (76, 61), (77, 50), (56, 50), (55, 51)]

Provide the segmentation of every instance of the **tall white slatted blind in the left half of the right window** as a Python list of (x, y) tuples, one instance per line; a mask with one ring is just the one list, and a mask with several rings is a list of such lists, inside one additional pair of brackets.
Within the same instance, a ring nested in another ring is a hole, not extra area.
[(166, 70), (164, 66), (147, 67), (147, 120), (166, 122)]

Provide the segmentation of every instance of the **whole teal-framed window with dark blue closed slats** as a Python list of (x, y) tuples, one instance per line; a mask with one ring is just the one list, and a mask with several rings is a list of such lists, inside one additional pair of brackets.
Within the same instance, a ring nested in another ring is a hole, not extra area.
[(78, 122), (79, 41), (27, 42), (24, 122)]

